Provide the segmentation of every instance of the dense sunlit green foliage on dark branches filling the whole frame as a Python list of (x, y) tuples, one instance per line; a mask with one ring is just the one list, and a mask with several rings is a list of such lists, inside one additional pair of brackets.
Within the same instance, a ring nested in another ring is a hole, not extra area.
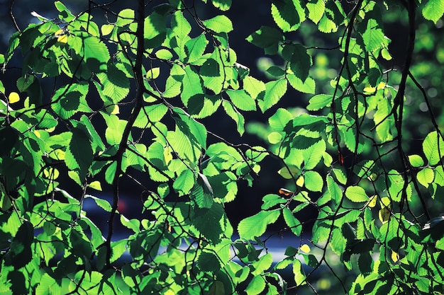
[[(206, 2), (89, 1), (75, 14), (55, 1), (57, 18), (33, 13), (11, 36), (0, 62), (7, 74), (20, 59), (21, 76), (0, 83), (0, 294), (443, 293), (444, 140), (421, 86), (433, 62), (415, 59), (418, 24), (442, 22), (443, 2), (272, 1), (274, 25), (247, 38), (281, 63), (267, 81), (237, 60), (231, 0)], [(217, 12), (202, 19), (205, 5)], [(279, 108), (294, 90), (308, 105)], [(242, 139), (245, 112), (267, 120), (247, 125), (264, 146), (211, 131), (232, 120)], [(233, 228), (225, 204), (266, 157), (288, 185)], [(119, 211), (123, 181), (142, 218)], [(299, 220), (306, 208), (316, 215)], [(300, 241), (280, 261), (267, 248), (277, 222)]]

